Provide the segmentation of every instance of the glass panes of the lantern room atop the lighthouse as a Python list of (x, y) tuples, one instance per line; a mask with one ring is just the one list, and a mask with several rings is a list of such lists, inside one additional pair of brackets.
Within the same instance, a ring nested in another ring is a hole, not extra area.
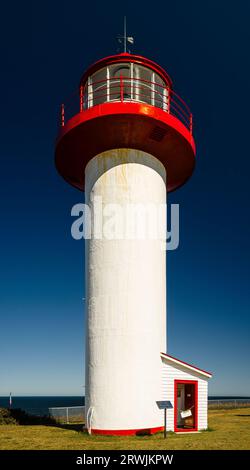
[(135, 63), (103, 67), (88, 78), (84, 107), (106, 102), (133, 101), (169, 110), (168, 86), (152, 69)]

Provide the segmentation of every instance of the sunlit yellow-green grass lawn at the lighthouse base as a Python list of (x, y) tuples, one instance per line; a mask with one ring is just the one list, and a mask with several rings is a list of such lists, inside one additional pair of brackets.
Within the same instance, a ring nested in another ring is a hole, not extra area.
[(53, 426), (0, 426), (0, 449), (250, 449), (250, 408), (209, 411), (209, 431), (136, 437), (89, 436), (86, 432)]

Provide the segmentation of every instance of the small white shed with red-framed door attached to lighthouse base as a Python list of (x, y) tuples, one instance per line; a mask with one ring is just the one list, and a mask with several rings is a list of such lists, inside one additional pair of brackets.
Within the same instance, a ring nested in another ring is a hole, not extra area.
[(167, 430), (195, 432), (207, 429), (208, 379), (210, 372), (161, 353), (162, 399), (171, 402)]

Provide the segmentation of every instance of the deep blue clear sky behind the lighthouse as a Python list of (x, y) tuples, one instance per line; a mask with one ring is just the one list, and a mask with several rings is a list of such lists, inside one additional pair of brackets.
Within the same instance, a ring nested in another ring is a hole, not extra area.
[(60, 103), (85, 68), (133, 52), (163, 66), (194, 114), (197, 167), (169, 197), (168, 352), (211, 370), (210, 394), (250, 395), (250, 4), (17, 2), (1, 7), (0, 395), (82, 394), (83, 195), (54, 167)]

